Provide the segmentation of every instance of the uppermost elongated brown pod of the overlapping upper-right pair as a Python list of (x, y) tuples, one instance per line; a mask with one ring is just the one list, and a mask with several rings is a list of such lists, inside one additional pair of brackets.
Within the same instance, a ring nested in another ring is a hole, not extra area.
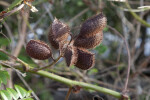
[(107, 24), (107, 19), (103, 15), (103, 13), (95, 15), (95, 16), (87, 19), (82, 24), (79, 35), (82, 37), (93, 36), (94, 34), (97, 34), (100, 31), (103, 31), (106, 24)]

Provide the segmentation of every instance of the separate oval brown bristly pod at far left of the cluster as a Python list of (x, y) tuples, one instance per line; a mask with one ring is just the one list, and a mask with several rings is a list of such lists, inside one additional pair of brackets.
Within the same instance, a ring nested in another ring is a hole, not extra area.
[(26, 46), (27, 54), (38, 60), (45, 60), (52, 56), (49, 46), (39, 40), (30, 40)]

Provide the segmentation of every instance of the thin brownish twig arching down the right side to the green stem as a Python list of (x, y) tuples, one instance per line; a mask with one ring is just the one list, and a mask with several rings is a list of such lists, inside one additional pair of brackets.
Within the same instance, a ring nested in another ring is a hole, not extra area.
[(128, 53), (128, 70), (127, 70), (127, 77), (126, 77), (126, 81), (125, 81), (125, 86), (124, 86), (124, 89), (122, 91), (123, 95), (126, 95), (127, 87), (128, 87), (128, 81), (129, 81), (129, 75), (130, 75), (130, 69), (131, 69), (131, 66), (130, 66), (131, 65), (131, 62), (130, 62), (131, 61), (131, 56), (130, 56), (128, 43), (125, 40), (125, 38), (115, 28), (112, 28), (111, 26), (108, 26), (108, 28), (111, 29), (112, 31), (114, 31), (117, 35), (119, 35), (123, 39), (123, 41), (125, 43), (125, 47), (127, 49), (127, 53)]

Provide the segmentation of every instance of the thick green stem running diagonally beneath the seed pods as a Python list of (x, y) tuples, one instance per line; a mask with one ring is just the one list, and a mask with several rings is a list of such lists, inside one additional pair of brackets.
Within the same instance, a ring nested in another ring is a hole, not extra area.
[[(21, 64), (23, 64), (26, 68), (33, 69), (32, 66), (28, 65), (27, 63), (25, 63), (24, 61), (20, 60), (19, 58), (16, 58), (16, 57), (10, 55), (9, 53), (7, 53), (6, 51), (4, 51), (2, 49), (0, 49), (0, 51), (5, 53), (5, 54), (7, 54), (11, 58), (14, 58), (16, 61), (18, 61)], [(20, 67), (18, 67), (17, 69), (23, 70), (23, 68), (20, 68)], [(67, 79), (67, 78), (55, 75), (55, 74), (47, 72), (47, 71), (40, 70), (40, 71), (35, 72), (35, 71), (32, 71), (32, 70), (28, 70), (28, 72), (47, 77), (49, 79), (53, 79), (55, 81), (64, 83), (64, 84), (66, 84), (66, 85), (68, 85), (70, 87), (78, 85), (78, 86), (81, 86), (82, 88), (86, 88), (86, 89), (91, 89), (91, 90), (95, 90), (95, 91), (98, 91), (98, 92), (102, 92), (102, 93), (114, 96), (114, 97), (116, 97), (118, 99), (120, 99), (122, 97), (121, 93), (113, 91), (111, 89), (107, 89), (107, 88), (100, 87), (100, 86), (97, 86), (97, 85), (92, 85), (92, 84), (85, 83), (85, 82), (79, 82), (79, 81), (70, 80), (70, 79)]]

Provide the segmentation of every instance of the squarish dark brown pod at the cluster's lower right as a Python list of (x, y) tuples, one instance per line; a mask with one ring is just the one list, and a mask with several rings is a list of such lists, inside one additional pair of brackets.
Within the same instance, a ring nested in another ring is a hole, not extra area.
[(77, 62), (75, 64), (76, 67), (87, 70), (94, 66), (95, 64), (95, 55), (85, 49), (78, 48), (77, 49)]

